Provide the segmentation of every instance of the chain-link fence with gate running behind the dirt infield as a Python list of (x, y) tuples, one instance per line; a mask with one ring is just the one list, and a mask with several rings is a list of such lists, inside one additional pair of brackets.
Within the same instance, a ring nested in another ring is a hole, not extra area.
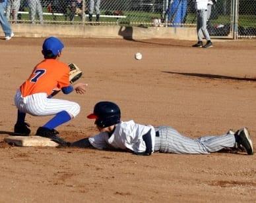
[[(255, 3), (217, 0), (210, 7), (208, 32), (216, 37), (255, 37)], [(6, 14), (12, 23), (196, 26), (193, 0), (8, 0)]]

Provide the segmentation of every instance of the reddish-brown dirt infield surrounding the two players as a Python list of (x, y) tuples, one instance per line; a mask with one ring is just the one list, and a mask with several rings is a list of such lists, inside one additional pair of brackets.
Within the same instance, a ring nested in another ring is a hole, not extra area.
[[(57, 127), (67, 141), (96, 133), (98, 101), (115, 101), (122, 120), (170, 125), (189, 137), (222, 135), (248, 127), (256, 143), (256, 41), (62, 39), (61, 60), (75, 62), (88, 83), (85, 95), (56, 97), (79, 102), (81, 112)], [(255, 155), (152, 154), (80, 148), (15, 147), (16, 89), (42, 60), (42, 38), (0, 40), (0, 202), (256, 202)], [(142, 60), (134, 54), (141, 52)], [(27, 116), (32, 135), (49, 117)], [(256, 145), (254, 144), (254, 148)]]

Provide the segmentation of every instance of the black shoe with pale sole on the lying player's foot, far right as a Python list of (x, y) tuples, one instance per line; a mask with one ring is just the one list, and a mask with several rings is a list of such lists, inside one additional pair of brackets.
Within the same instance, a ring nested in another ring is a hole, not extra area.
[(247, 151), (247, 154), (253, 155), (253, 141), (246, 127), (238, 130), (235, 135), (238, 137), (238, 146), (241, 145)]

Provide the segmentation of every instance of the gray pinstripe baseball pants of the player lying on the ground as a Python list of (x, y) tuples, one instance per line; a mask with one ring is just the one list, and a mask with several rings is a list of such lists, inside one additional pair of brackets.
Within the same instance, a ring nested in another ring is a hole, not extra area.
[(181, 135), (169, 126), (156, 127), (155, 152), (176, 154), (210, 154), (222, 148), (234, 147), (236, 139), (232, 134), (205, 136), (191, 139)]

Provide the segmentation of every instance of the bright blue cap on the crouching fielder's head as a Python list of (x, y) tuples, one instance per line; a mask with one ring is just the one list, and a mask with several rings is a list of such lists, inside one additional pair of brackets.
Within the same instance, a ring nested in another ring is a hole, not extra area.
[(48, 37), (44, 40), (43, 51), (44, 53), (51, 51), (56, 56), (63, 47), (63, 43), (57, 37)]

